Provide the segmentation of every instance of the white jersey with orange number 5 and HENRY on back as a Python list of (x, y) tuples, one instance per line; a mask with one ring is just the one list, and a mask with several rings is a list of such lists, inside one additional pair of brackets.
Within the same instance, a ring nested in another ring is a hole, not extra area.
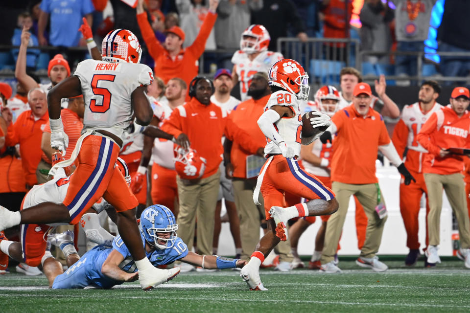
[(83, 132), (108, 131), (123, 139), (134, 114), (131, 94), (153, 80), (150, 67), (135, 63), (85, 60), (74, 73), (80, 79), (85, 101)]

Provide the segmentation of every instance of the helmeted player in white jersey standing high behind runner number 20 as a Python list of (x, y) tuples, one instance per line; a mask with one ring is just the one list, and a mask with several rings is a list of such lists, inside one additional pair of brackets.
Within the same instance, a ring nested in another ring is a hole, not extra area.
[(283, 59), (281, 53), (268, 51), (270, 41), (271, 37), (263, 25), (250, 25), (241, 34), (240, 50), (232, 57), (234, 86), (240, 81), (241, 101), (248, 97), (253, 75), (257, 72), (267, 73), (274, 63)]

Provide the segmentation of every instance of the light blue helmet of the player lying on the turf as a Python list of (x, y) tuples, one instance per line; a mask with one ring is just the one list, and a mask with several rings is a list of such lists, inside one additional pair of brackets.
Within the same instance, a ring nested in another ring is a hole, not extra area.
[[(176, 224), (175, 216), (164, 205), (154, 204), (144, 209), (141, 214), (139, 228), (147, 243), (158, 249), (171, 248), (178, 238), (176, 235), (178, 224)], [(157, 233), (168, 232), (170, 233), (169, 238), (157, 236)], [(159, 244), (157, 240), (164, 240), (166, 245)]]

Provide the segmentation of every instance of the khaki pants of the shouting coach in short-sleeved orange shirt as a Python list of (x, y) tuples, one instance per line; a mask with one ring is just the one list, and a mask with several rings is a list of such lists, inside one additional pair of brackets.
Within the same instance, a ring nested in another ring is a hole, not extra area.
[(355, 195), (362, 204), (368, 219), (366, 241), (364, 246), (362, 246), (360, 256), (363, 258), (373, 258), (380, 247), (383, 226), (387, 220), (387, 217), (380, 219), (375, 210), (377, 205), (376, 184), (345, 184), (333, 181), (332, 189), (336, 194), (339, 207), (338, 211), (331, 215), (327, 223), (325, 246), (321, 258), (322, 264), (329, 263), (334, 259), (343, 230), (344, 220), (346, 219), (346, 213), (348, 212), (349, 199), (352, 195)]

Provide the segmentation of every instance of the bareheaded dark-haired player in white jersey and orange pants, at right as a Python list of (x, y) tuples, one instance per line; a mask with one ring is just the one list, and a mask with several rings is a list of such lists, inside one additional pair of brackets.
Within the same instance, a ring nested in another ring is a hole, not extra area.
[[(404, 179), (400, 181), (400, 213), (403, 218), (407, 233), (406, 246), (410, 249), (405, 258), (405, 265), (413, 266), (420, 257), (420, 243), (418, 241), (418, 215), (421, 208), (421, 198), (426, 195), (426, 239), (424, 249), (428, 244), (427, 234), (427, 214), (429, 204), (427, 201), (427, 188), (423, 177), (423, 160), (427, 150), (416, 139), (421, 127), (432, 113), (442, 110), (443, 106), (436, 102), (441, 92), (441, 87), (436, 81), (425, 81), (421, 85), (418, 98), (419, 101), (407, 105), (401, 112), (400, 121), (395, 126), (392, 142), (400, 156), (406, 151), (405, 166), (416, 179), (409, 185), (404, 184)], [(427, 263), (425, 267), (435, 266), (435, 263)]]

